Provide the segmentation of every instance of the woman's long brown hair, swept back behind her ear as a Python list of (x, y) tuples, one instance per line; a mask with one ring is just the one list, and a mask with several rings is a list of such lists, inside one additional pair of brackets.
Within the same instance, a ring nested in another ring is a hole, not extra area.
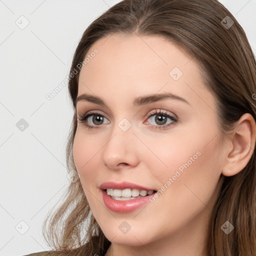
[[(66, 148), (68, 171), (75, 170), (72, 145), (77, 127), (75, 100), (80, 71), (77, 67), (96, 40), (112, 33), (161, 35), (197, 60), (204, 84), (217, 100), (221, 135), (225, 136), (243, 113), (250, 113), (256, 119), (252, 97), (256, 91), (255, 57), (244, 30), (221, 3), (217, 0), (123, 0), (86, 28), (73, 56), (68, 84), (74, 108)], [(71, 75), (74, 69), (77, 74)], [(254, 150), (242, 171), (223, 177), (208, 225), (206, 253), (209, 256), (255, 255), (255, 168)], [(229, 234), (220, 228), (227, 220), (234, 226)], [(69, 184), (64, 202), (45, 219), (43, 235), (50, 246), (63, 254), (70, 252), (68, 255), (104, 255), (110, 245), (90, 211), (79, 179)]]

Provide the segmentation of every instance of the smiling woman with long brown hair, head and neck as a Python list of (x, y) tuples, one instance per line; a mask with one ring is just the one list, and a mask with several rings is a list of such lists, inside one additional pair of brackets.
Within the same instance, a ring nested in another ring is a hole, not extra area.
[(255, 255), (256, 63), (222, 4), (123, 0), (69, 78), (76, 176), (29, 255)]

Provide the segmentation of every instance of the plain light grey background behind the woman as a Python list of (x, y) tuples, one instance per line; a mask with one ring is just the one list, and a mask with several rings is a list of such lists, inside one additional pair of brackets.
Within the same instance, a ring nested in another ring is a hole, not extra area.
[[(68, 75), (85, 28), (119, 0), (0, 0), (0, 256), (49, 249), (46, 213), (67, 185), (65, 145), (72, 106)], [(256, 53), (256, 0), (220, 0), (244, 28)], [(26, 21), (29, 24), (20, 29)], [(15, 23), (17, 22), (19, 26)], [(16, 123), (25, 119), (20, 131)], [(26, 224), (28, 230), (26, 229)]]

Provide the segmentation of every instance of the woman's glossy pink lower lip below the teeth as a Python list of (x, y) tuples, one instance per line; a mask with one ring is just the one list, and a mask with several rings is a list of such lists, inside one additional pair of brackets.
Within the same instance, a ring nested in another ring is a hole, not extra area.
[(103, 201), (106, 207), (112, 211), (116, 212), (130, 212), (140, 208), (145, 203), (149, 202), (149, 197), (153, 195), (146, 195), (143, 197), (138, 197), (135, 199), (125, 200), (125, 201), (118, 201), (111, 198), (110, 195), (106, 193), (105, 190), (102, 190)]

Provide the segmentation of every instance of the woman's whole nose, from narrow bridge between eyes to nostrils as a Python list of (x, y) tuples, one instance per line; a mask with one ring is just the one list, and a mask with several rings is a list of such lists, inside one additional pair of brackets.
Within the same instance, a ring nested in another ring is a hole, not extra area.
[(103, 147), (102, 161), (109, 168), (117, 168), (119, 163), (136, 165), (138, 153), (131, 122), (122, 118), (114, 124), (109, 139)]

